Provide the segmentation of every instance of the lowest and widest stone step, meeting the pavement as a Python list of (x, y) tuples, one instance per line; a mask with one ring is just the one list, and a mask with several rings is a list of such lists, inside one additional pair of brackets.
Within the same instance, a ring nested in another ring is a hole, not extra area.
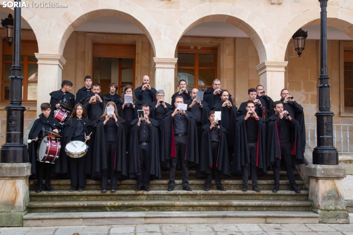
[(284, 211), (173, 211), (28, 213), (24, 227), (141, 224), (317, 224), (312, 212)]

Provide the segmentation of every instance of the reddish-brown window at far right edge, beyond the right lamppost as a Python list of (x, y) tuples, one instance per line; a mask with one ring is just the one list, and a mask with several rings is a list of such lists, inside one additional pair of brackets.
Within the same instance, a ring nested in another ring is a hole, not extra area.
[(353, 111), (353, 51), (344, 51), (345, 110)]

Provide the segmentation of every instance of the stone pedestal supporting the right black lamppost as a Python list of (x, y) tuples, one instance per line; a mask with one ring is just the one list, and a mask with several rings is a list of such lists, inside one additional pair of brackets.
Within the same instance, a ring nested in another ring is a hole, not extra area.
[(347, 224), (342, 180), (346, 177), (346, 168), (341, 165), (313, 165), (306, 167), (310, 178), (309, 200), (312, 212), (319, 214), (319, 223)]

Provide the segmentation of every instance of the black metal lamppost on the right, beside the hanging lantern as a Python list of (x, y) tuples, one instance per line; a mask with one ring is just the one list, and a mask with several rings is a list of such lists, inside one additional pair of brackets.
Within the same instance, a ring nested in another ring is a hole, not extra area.
[(333, 112), (330, 111), (330, 85), (327, 75), (327, 1), (319, 0), (321, 6), (320, 35), (320, 84), (319, 111), (315, 114), (317, 122), (317, 146), (312, 152), (312, 163), (318, 165), (338, 165), (338, 152), (333, 147)]

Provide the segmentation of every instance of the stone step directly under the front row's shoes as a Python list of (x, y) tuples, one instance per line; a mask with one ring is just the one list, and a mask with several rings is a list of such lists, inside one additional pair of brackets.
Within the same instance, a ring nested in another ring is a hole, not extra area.
[(56, 190), (54, 192), (42, 191), (36, 193), (30, 191), (30, 201), (108, 201), (108, 200), (308, 200), (308, 191), (297, 194), (289, 190), (280, 190), (273, 193), (271, 190), (255, 192), (249, 190), (218, 191), (193, 190), (151, 190), (149, 192), (132, 190), (118, 190), (116, 192), (102, 193), (99, 190), (85, 190), (84, 192), (69, 192), (68, 190)]

